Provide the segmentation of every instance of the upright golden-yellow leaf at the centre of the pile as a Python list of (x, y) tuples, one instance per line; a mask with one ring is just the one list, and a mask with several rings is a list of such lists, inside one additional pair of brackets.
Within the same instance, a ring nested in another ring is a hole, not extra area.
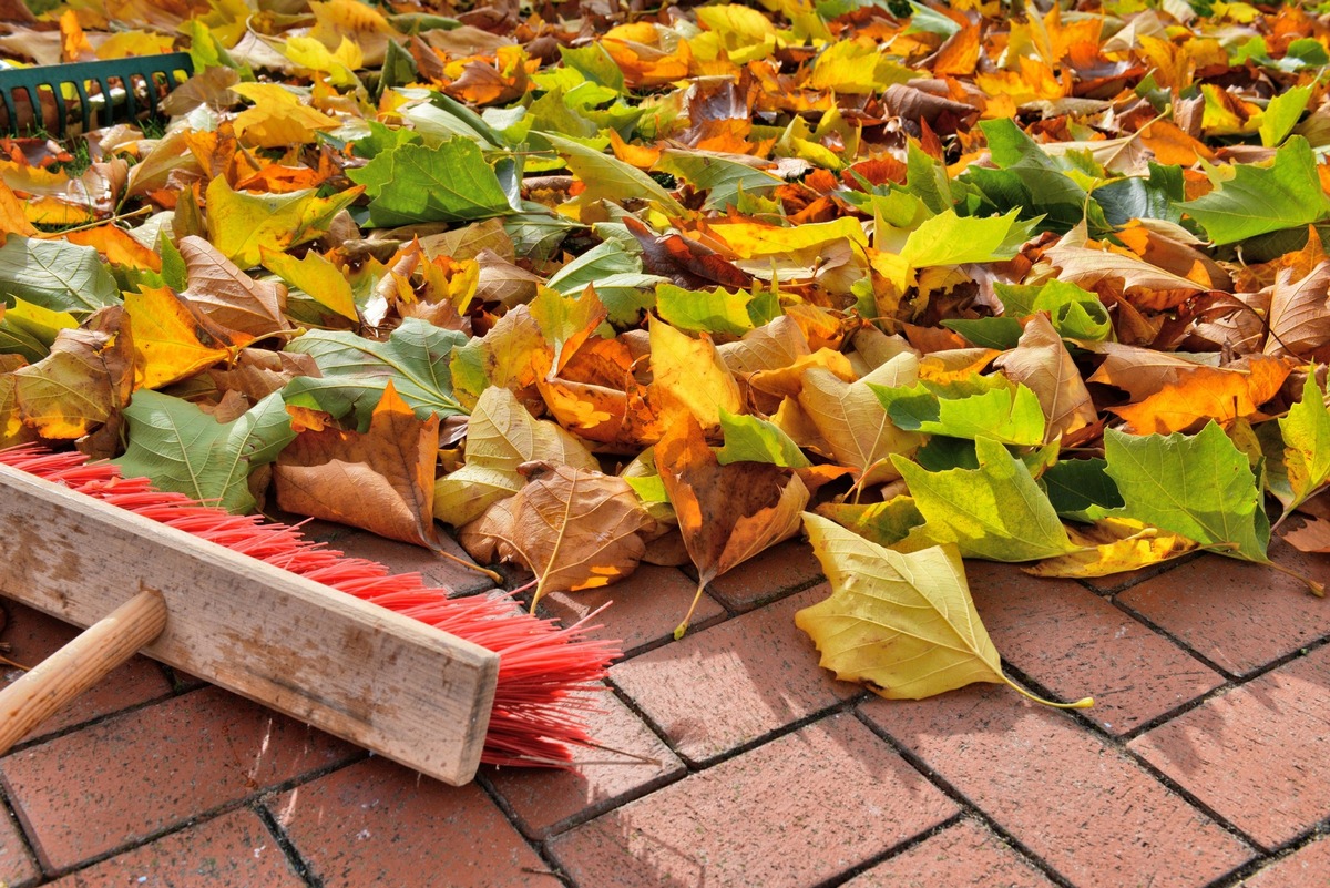
[(666, 428), (686, 412), (710, 432), (721, 424), (721, 409), (743, 412), (739, 386), (716, 352), (710, 336), (700, 334), (693, 339), (653, 316), (650, 343), (652, 391), (660, 395)]

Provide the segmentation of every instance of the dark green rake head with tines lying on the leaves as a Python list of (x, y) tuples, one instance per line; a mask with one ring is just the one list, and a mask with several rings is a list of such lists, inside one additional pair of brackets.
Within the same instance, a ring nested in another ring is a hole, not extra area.
[[(64, 137), (82, 117), (82, 132), (100, 125), (156, 114), (158, 101), (194, 73), (189, 53), (80, 61), (35, 68), (0, 68), (0, 134), (24, 130)], [(181, 76), (184, 74), (184, 76)], [(73, 93), (73, 94), (70, 94)], [(47, 117), (55, 120), (48, 121)]]

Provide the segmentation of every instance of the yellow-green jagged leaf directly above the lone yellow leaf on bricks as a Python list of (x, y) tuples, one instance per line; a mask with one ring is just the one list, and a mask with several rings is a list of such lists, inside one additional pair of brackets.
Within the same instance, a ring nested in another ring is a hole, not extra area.
[(1036, 561), (1076, 548), (1024, 463), (986, 437), (975, 441), (975, 452), (978, 469), (950, 472), (892, 457), (924, 517), (927, 540), (956, 542), (963, 556), (990, 561)]

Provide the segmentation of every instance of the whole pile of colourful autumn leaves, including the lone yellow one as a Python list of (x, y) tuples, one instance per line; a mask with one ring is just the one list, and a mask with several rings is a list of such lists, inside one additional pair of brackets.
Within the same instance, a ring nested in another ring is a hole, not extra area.
[(888, 697), (1007, 681), (963, 557), (1266, 562), (1267, 502), (1330, 548), (1310, 20), (954, 5), (161, 7), (200, 68), (165, 136), (73, 177), (5, 142), (0, 445), (442, 521), (537, 601), (644, 560), (701, 594), (803, 532), (833, 594), (798, 623)]

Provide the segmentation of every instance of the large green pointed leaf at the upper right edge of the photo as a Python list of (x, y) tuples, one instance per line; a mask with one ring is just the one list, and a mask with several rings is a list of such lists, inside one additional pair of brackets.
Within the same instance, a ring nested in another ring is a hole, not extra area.
[(1269, 166), (1236, 164), (1232, 173), (1205, 197), (1178, 205), (1217, 245), (1306, 226), (1330, 213), (1315, 154), (1301, 136), (1275, 152)]

